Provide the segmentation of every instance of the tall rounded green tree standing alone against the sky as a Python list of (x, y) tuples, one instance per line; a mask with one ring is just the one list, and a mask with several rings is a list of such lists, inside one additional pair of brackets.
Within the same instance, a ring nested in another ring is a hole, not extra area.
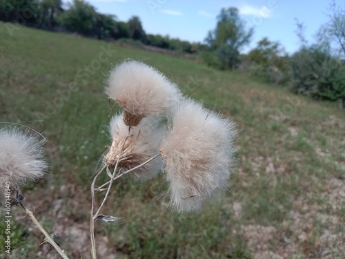
[(221, 68), (233, 69), (239, 64), (239, 50), (250, 43), (253, 28), (247, 30), (237, 8), (223, 8), (217, 16), (217, 27), (208, 32), (206, 42), (215, 50)]

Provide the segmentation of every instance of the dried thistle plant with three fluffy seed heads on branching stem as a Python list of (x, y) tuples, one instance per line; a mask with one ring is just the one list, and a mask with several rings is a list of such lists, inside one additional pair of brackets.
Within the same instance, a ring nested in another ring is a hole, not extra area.
[[(179, 212), (198, 211), (216, 189), (227, 185), (237, 134), (235, 123), (183, 97), (165, 75), (138, 61), (124, 61), (111, 71), (106, 94), (123, 112), (110, 120), (112, 144), (91, 184), (92, 258), (97, 258), (95, 221), (119, 220), (100, 213), (114, 180), (127, 173), (148, 179), (161, 171), (170, 184), (170, 206)], [(104, 170), (110, 180), (95, 187)], [(95, 191), (106, 191), (96, 212)]]

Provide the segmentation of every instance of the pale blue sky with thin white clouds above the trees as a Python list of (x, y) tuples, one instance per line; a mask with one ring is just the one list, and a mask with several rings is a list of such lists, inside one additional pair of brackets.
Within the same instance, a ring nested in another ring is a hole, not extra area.
[[(254, 26), (250, 46), (254, 48), (263, 37), (279, 41), (289, 53), (297, 50), (295, 18), (306, 26), (306, 38), (313, 41), (319, 27), (328, 21), (331, 0), (89, 0), (98, 12), (116, 15), (128, 21), (137, 15), (146, 33), (169, 35), (188, 41), (204, 41), (216, 26), (221, 8), (235, 6), (248, 26)], [(344, 6), (344, 0), (335, 0)]]

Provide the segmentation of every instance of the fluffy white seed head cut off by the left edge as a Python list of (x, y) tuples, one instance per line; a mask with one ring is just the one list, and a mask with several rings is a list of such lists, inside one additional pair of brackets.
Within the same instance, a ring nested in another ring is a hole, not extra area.
[(0, 197), (6, 182), (18, 189), (26, 180), (37, 181), (43, 176), (47, 164), (42, 144), (37, 137), (16, 128), (0, 130)]

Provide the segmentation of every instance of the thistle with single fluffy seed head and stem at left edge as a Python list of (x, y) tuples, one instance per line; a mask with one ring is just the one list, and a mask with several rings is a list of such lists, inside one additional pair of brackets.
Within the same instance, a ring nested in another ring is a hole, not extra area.
[[(54, 247), (62, 258), (68, 259), (55, 240), (39, 224), (33, 211), (28, 210), (23, 204), (23, 195), (19, 187), (27, 180), (36, 182), (46, 173), (48, 164), (43, 157), (44, 140), (39, 137), (22, 133), (18, 128), (0, 129), (0, 191), (1, 198), (13, 205), (19, 205), (32, 222), (46, 236), (45, 240)], [(15, 192), (15, 198), (11, 193)], [(8, 208), (8, 206), (6, 206)]]

